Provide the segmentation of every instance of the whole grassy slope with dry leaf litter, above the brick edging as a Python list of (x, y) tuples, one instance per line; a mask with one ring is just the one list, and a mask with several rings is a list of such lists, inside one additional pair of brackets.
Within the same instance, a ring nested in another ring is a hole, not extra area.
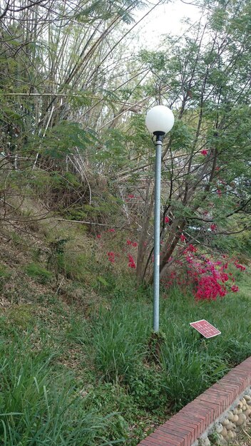
[[(137, 445), (250, 356), (247, 271), (238, 273), (238, 293), (216, 301), (195, 301), (192, 290), (176, 286), (163, 290), (156, 337), (150, 287), (136, 284), (135, 269), (107, 259), (108, 246), (118, 249), (114, 232), (102, 234), (101, 246), (85, 225), (51, 218), (19, 222), (5, 237), (4, 445)], [(201, 318), (222, 334), (201, 340), (189, 326)]]

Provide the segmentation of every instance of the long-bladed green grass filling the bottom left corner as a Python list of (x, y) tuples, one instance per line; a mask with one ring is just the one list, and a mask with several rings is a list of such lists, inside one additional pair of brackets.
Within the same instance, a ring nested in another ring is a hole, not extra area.
[[(111, 445), (111, 416), (86, 411), (71, 375), (53, 375), (53, 354), (27, 351), (31, 338), (0, 346), (0, 444)], [(110, 427), (109, 427), (110, 426)]]

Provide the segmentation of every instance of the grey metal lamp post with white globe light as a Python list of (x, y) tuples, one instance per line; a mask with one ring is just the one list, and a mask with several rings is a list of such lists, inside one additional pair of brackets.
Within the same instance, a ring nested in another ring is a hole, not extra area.
[(156, 105), (146, 117), (145, 125), (155, 140), (155, 204), (154, 204), (154, 271), (153, 271), (153, 331), (159, 331), (160, 307), (160, 179), (161, 150), (165, 133), (173, 128), (174, 116), (170, 108)]

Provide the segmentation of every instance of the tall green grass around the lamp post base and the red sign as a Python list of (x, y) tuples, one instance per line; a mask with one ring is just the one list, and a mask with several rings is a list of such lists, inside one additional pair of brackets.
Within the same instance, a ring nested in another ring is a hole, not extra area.
[[(180, 290), (173, 289), (161, 303), (160, 323), (165, 337), (157, 369), (148, 358), (150, 300), (114, 298), (111, 308), (103, 309), (93, 321), (86, 345), (91, 346), (101, 379), (126, 383), (142, 406), (146, 393), (150, 394), (151, 385), (145, 385), (150, 374), (155, 389), (153, 398), (165, 395), (160, 398), (160, 405), (165, 401), (178, 410), (220, 379), (232, 365), (251, 355), (248, 319), (243, 326), (243, 316), (247, 311), (251, 313), (247, 310), (248, 301), (227, 296), (219, 301), (195, 302), (192, 295), (181, 296)], [(217, 326), (222, 334), (210, 340), (201, 339), (190, 322), (202, 318)], [(148, 406), (157, 407), (156, 401)]]

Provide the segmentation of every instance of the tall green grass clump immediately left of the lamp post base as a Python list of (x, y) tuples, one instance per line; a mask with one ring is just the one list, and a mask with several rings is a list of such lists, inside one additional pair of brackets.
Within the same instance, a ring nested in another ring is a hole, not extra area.
[(96, 370), (101, 378), (116, 382), (130, 376), (135, 365), (143, 361), (150, 335), (150, 320), (137, 301), (116, 299), (110, 310), (102, 310), (93, 321), (91, 337), (86, 339), (93, 352)]

